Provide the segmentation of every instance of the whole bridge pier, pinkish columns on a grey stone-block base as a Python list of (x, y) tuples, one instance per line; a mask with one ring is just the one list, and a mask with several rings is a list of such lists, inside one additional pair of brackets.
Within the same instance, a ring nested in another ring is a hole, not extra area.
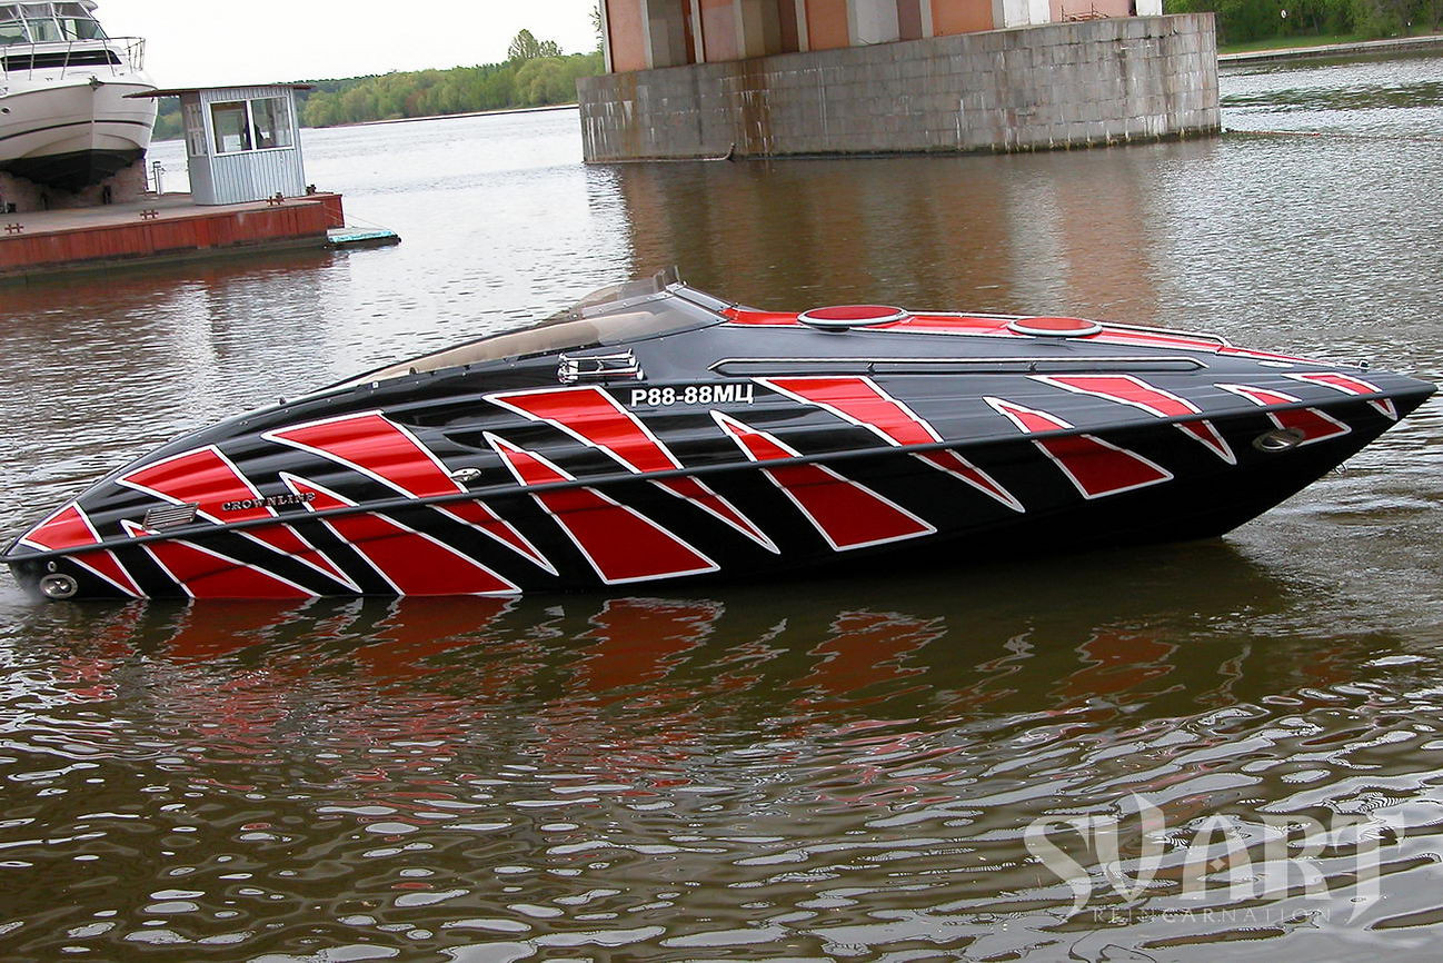
[(1033, 150), (1219, 123), (1212, 14), (1162, 17), (1159, 0), (600, 10), (609, 72), (580, 84), (587, 160)]

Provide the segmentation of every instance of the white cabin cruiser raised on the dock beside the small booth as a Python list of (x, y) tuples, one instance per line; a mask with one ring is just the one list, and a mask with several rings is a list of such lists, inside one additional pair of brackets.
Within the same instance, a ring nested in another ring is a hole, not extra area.
[(110, 38), (94, 0), (0, 3), (0, 170), (79, 191), (144, 156), (156, 90), (146, 43)]

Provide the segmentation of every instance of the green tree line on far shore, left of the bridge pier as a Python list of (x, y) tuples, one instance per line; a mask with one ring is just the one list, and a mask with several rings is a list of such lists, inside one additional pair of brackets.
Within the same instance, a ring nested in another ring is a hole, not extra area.
[[(436, 117), (483, 110), (574, 104), (576, 79), (603, 71), (602, 52), (563, 53), (554, 40), (521, 30), (506, 49), (505, 64), (457, 66), (449, 71), (405, 71), (304, 81), (315, 90), (296, 91), (303, 127), (335, 127), (374, 120)], [(160, 101), (154, 140), (185, 136), (180, 100)]]

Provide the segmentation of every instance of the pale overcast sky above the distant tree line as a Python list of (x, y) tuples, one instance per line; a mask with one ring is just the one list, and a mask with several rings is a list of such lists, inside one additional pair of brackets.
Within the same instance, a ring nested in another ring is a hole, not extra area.
[(595, 0), (100, 0), (111, 36), (146, 38), (159, 87), (330, 79), (496, 64), (522, 27), (596, 49)]

